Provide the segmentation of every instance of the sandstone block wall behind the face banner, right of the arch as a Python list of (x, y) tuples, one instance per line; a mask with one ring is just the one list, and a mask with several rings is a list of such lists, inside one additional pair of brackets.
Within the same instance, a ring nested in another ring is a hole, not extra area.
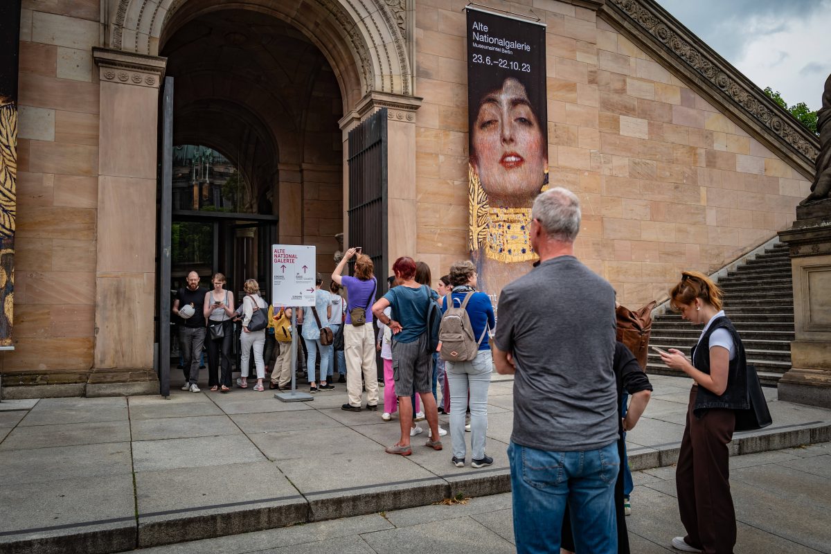
[[(788, 228), (809, 182), (596, 12), (479, 2), (547, 24), (549, 182), (577, 193), (577, 254), (640, 306), (683, 269), (712, 272)], [(468, 256), (467, 66), (461, 0), (416, 2), (417, 256)]]

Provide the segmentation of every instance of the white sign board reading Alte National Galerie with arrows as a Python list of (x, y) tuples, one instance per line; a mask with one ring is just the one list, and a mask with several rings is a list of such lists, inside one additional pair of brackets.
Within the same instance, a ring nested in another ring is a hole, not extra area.
[(273, 305), (313, 306), (315, 248), (297, 244), (273, 244)]

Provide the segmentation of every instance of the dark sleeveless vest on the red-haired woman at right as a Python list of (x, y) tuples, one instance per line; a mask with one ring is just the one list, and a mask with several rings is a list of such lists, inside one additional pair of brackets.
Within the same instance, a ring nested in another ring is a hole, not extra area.
[(710, 336), (713, 334), (713, 331), (721, 328), (729, 331), (730, 336), (733, 337), (735, 358), (730, 360), (727, 372), (727, 388), (724, 393), (715, 395), (710, 390), (699, 385), (698, 394), (696, 395), (696, 405), (692, 410), (698, 419), (704, 417), (708, 409), (750, 408), (750, 399), (748, 398), (747, 391), (747, 358), (745, 356), (745, 346), (741, 344), (739, 333), (735, 330), (735, 327), (729, 319), (719, 317), (711, 322), (710, 327), (707, 328), (707, 332), (701, 337), (701, 341), (692, 348), (692, 365), (696, 366), (696, 370), (710, 375)]

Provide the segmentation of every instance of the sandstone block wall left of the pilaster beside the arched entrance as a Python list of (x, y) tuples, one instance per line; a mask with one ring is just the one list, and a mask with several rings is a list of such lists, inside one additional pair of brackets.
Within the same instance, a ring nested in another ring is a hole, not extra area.
[(2, 355), (2, 370), (71, 381), (93, 357), (99, 82), (91, 48), (99, 44), (99, 2), (22, 7), (16, 350)]

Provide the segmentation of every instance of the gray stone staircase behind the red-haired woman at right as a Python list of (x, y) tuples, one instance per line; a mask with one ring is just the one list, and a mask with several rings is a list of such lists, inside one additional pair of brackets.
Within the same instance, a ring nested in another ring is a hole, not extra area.
[[(764, 385), (776, 385), (790, 369), (790, 341), (794, 340), (794, 292), (788, 247), (775, 244), (737, 270), (719, 279), (725, 313), (745, 345), (747, 360), (756, 366)], [(701, 336), (703, 326), (682, 321), (673, 311), (652, 321), (650, 346), (677, 348), (687, 355)], [(650, 351), (647, 373), (683, 375), (661, 363)]]

